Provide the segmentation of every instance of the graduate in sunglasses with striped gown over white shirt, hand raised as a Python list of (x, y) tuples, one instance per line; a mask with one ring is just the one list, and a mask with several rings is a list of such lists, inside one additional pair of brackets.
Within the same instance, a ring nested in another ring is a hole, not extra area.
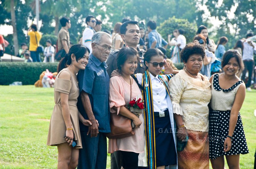
[[(166, 74), (177, 73), (164, 60), (164, 53), (150, 48), (144, 54), (147, 70), (144, 74), (135, 74), (142, 86), (144, 100), (145, 138), (148, 168), (163, 168), (177, 165), (176, 138), (172, 112), (172, 102), (168, 90), (168, 81), (173, 76), (159, 75), (164, 66)], [(174, 166), (175, 167), (175, 166)]]

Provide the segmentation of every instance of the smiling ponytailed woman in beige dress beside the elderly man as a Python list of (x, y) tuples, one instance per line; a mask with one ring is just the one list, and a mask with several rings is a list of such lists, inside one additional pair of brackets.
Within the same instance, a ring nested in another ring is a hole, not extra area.
[[(79, 149), (82, 148), (78, 119), (85, 120), (76, 107), (79, 96), (76, 74), (85, 69), (89, 60), (89, 49), (83, 45), (73, 45), (58, 65), (58, 75), (54, 85), (54, 100), (47, 145), (58, 147), (58, 168), (76, 168)], [(79, 116), (79, 117), (78, 117)]]

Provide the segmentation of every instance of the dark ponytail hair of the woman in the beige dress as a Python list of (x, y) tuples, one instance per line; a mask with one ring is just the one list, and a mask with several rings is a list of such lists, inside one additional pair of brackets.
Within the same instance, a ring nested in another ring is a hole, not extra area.
[(60, 63), (57, 67), (57, 72), (59, 73), (62, 69), (68, 67), (71, 64), (71, 55), (74, 54), (76, 56), (76, 61), (84, 57), (84, 54), (90, 50), (81, 44), (76, 44), (70, 47), (68, 53), (65, 54), (64, 58), (60, 60)]

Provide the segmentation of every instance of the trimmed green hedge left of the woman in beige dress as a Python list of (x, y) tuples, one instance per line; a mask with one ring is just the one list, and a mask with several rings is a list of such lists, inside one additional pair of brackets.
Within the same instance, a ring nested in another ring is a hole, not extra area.
[(33, 85), (46, 69), (52, 73), (56, 72), (58, 64), (59, 62), (0, 62), (0, 85), (9, 85), (14, 81), (21, 81), (23, 85)]

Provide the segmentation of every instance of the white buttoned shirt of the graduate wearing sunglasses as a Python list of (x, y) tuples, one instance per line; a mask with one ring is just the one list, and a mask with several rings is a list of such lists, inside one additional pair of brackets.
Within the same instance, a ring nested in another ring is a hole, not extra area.
[[(149, 73), (152, 85), (152, 95), (153, 95), (153, 105), (154, 112), (162, 112), (168, 109), (167, 99), (166, 99), (166, 89), (163, 82), (159, 79), (158, 75), (154, 77)], [(142, 74), (136, 74), (139, 83), (142, 81)]]

